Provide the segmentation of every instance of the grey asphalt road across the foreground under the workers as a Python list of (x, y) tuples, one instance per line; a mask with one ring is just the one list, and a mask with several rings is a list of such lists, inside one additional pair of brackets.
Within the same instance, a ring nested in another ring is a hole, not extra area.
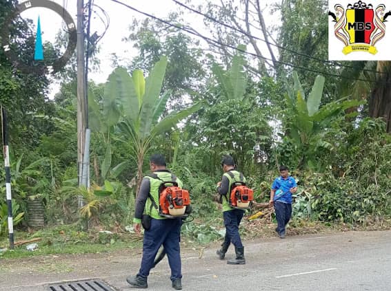
[[(216, 248), (182, 249), (183, 290), (391, 290), (390, 230), (245, 241), (244, 266), (219, 261)], [(227, 257), (234, 257), (232, 248)], [(100, 278), (115, 290), (135, 290), (125, 279), (137, 272), (140, 259), (131, 250), (0, 261), (0, 290), (48, 290), (48, 283), (88, 278)], [(169, 278), (164, 259), (151, 272), (148, 290), (173, 290)]]

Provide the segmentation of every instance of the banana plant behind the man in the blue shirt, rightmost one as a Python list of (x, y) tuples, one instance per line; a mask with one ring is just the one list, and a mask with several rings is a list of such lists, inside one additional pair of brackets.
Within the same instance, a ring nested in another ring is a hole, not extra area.
[[(287, 86), (288, 94), (285, 95), (288, 104), (288, 136), (295, 142), (297, 149), (302, 153), (301, 166), (306, 168), (314, 166), (312, 160), (315, 149), (333, 149), (332, 144), (325, 140), (319, 140), (319, 133), (330, 127), (336, 116), (345, 109), (357, 107), (363, 101), (347, 100), (342, 98), (332, 103), (321, 106), (323, 86), (325, 78), (317, 76), (308, 96), (305, 96), (297, 72), (293, 72), (294, 85)], [(315, 142), (316, 140), (316, 142)]]

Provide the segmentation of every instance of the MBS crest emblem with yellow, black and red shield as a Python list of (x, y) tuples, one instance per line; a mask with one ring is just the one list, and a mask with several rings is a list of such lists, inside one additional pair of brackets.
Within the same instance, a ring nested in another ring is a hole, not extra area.
[(343, 42), (343, 54), (369, 52), (377, 54), (376, 43), (385, 35), (385, 22), (391, 11), (385, 12), (380, 4), (376, 9), (362, 1), (349, 4), (347, 9), (337, 4), (335, 13), (328, 12), (334, 22), (334, 34)]

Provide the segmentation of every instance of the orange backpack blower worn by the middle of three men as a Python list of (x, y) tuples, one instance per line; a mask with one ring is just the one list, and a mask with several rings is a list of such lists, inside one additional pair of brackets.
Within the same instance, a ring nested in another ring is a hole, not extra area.
[[(228, 172), (228, 175), (234, 179), (234, 174)], [(243, 182), (243, 174), (240, 174), (241, 181), (233, 182), (230, 188), (230, 199), (228, 202), (232, 208), (250, 209), (251, 202), (254, 200), (254, 191), (248, 188)]]

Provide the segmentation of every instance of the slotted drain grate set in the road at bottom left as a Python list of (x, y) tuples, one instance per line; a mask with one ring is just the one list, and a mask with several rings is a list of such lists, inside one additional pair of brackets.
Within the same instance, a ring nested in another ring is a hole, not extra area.
[(114, 291), (101, 280), (83, 280), (49, 285), (50, 291)]

